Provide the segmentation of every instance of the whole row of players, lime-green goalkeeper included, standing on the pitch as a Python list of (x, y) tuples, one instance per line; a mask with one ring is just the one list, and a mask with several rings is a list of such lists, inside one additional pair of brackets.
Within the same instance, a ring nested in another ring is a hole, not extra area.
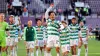
[[(68, 56), (69, 52), (72, 53), (72, 56), (80, 56), (81, 46), (84, 44), (85, 56), (88, 56), (88, 28), (83, 21), (77, 24), (77, 19), (72, 18), (70, 25), (66, 21), (57, 21), (55, 19), (55, 12), (51, 11), (52, 7), (53, 5), (45, 13), (45, 25), (43, 25), (44, 21), (38, 19), (37, 25), (32, 26), (32, 20), (29, 20), (24, 28), (22, 38), (26, 45), (26, 55), (34, 56), (34, 49), (36, 49), (36, 56), (42, 56), (42, 53), (44, 53), (44, 56), (53, 56), (51, 55), (51, 49), (55, 47), (57, 56)], [(0, 14), (0, 46), (2, 56), (6, 56), (6, 54), (8, 56), (17, 56), (19, 25), (20, 21), (19, 24), (15, 24), (14, 16), (11, 15), (9, 23), (6, 23), (3, 20), (3, 14)], [(10, 50), (8, 47), (10, 47)]]

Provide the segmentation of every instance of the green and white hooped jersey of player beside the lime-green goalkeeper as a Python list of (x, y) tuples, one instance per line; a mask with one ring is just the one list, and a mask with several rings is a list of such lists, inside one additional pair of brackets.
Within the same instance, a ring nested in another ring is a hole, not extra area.
[(9, 33), (10, 33), (10, 37), (11, 38), (16, 38), (17, 35), (16, 35), (16, 31), (19, 30), (18, 26), (15, 25), (15, 24), (9, 24)]

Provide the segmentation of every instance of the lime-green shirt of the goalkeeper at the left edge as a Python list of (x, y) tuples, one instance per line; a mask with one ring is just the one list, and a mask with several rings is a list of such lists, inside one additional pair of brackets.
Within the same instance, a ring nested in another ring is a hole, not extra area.
[(0, 40), (6, 37), (6, 29), (8, 28), (8, 23), (0, 22)]

